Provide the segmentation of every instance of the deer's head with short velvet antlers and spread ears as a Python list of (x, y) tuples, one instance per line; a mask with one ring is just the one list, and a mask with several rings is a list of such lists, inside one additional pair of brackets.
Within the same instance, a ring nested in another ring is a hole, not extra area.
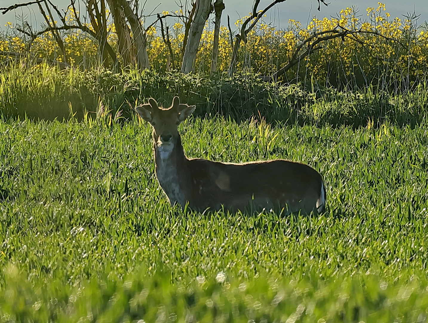
[(186, 120), (195, 110), (194, 105), (180, 104), (175, 96), (171, 107), (164, 109), (158, 106), (155, 99), (150, 98), (149, 104), (137, 107), (137, 112), (153, 127), (153, 140), (160, 151), (161, 158), (169, 156), (178, 138), (178, 125)]

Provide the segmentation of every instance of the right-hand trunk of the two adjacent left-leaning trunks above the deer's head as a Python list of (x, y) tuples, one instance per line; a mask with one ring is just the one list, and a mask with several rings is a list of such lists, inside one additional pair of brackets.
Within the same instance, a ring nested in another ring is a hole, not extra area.
[(135, 12), (131, 9), (128, 0), (122, 0), (123, 9), (131, 25), (132, 34), (134, 36), (134, 45), (137, 47), (137, 65), (139, 69), (150, 69), (149, 56), (146, 48), (146, 33), (141, 26)]

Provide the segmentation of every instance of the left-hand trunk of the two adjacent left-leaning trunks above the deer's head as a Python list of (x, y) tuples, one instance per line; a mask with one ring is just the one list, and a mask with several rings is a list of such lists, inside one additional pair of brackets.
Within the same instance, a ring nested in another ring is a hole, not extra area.
[(119, 51), (124, 65), (135, 64), (134, 46), (131, 41), (131, 33), (126, 24), (125, 12), (118, 0), (107, 0), (110, 12), (113, 16), (114, 26), (116, 28)]

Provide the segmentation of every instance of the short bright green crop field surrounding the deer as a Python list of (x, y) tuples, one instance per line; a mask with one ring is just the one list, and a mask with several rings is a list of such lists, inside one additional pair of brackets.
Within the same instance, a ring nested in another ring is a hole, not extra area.
[(427, 91), (341, 126), (344, 106), (377, 111), (349, 97), (314, 97), (303, 125), (196, 113), (180, 128), (188, 157), (314, 167), (316, 217), (171, 208), (135, 118), (3, 117), (0, 321), (426, 322)]

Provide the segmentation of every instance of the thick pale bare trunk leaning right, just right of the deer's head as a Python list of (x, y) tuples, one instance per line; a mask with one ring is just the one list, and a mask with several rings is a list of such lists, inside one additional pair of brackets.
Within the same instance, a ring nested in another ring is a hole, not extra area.
[(211, 0), (196, 0), (196, 13), (190, 27), (189, 38), (184, 50), (183, 63), (181, 64), (182, 73), (190, 73), (195, 69), (199, 42), (204, 30), (205, 21), (207, 21), (211, 10)]

